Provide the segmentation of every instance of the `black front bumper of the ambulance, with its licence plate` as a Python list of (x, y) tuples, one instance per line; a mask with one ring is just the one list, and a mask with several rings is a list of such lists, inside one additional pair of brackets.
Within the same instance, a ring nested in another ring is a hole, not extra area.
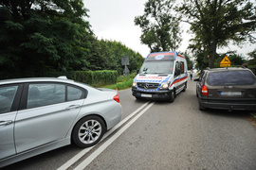
[[(137, 88), (132, 88), (132, 94), (136, 98), (141, 98), (141, 99), (147, 99), (147, 100), (168, 100), (171, 95), (170, 90), (160, 90), (156, 92), (143, 92), (143, 91), (138, 91)], [(143, 96), (143, 94), (146, 94), (146, 96)], [(147, 96), (148, 95), (148, 96)]]

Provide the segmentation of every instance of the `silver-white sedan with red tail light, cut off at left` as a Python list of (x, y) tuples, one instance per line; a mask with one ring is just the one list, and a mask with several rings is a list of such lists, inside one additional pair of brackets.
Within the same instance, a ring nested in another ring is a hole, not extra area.
[(122, 115), (117, 91), (65, 77), (0, 81), (0, 168), (46, 151), (100, 142)]

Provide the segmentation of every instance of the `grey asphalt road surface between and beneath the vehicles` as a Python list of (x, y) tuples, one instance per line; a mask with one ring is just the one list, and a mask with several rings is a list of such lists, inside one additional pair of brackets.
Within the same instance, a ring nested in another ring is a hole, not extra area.
[(248, 112), (198, 110), (192, 80), (172, 104), (136, 100), (130, 89), (119, 95), (127, 121), (70, 166), (64, 164), (82, 152), (72, 145), (4, 169), (256, 169), (256, 127)]

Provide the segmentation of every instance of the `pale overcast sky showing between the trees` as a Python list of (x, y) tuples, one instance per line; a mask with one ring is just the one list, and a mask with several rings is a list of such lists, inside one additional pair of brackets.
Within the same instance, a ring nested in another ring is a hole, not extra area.
[[(147, 45), (140, 42), (141, 28), (135, 26), (136, 16), (143, 15), (144, 4), (148, 0), (83, 0), (84, 7), (89, 9), (85, 18), (91, 25), (91, 29), (99, 40), (117, 41), (140, 53), (144, 58), (150, 53)], [(182, 39), (177, 51), (185, 52), (192, 35), (187, 33), (189, 25), (182, 24)], [(242, 48), (229, 44), (229, 47), (218, 49), (218, 53), (229, 50), (237, 50), (239, 55), (247, 57), (247, 53), (253, 51), (256, 44), (247, 44)]]

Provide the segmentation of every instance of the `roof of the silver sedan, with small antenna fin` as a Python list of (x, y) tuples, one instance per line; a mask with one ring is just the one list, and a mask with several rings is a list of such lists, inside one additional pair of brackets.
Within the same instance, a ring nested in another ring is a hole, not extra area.
[(10, 84), (10, 83), (26, 83), (26, 82), (65, 82), (65, 83), (74, 83), (74, 80), (67, 79), (65, 76), (59, 77), (27, 77), (27, 78), (13, 78), (13, 79), (3, 79), (0, 80), (0, 84)]

